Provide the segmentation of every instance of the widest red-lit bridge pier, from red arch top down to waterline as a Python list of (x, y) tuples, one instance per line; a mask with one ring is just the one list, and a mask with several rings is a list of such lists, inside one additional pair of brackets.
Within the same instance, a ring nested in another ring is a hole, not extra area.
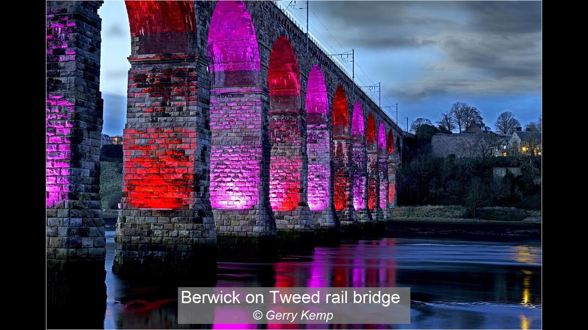
[[(205, 56), (196, 51), (194, 4), (125, 4), (131, 69), (116, 241), (149, 236), (153, 243), (117, 245), (112, 270), (154, 277), (211, 274), (216, 269), (216, 231), (209, 203), (209, 77)], [(172, 244), (177, 240), (172, 233), (154, 231), (178, 221), (193, 237), (209, 239)], [(162, 267), (168, 262), (175, 267)]]

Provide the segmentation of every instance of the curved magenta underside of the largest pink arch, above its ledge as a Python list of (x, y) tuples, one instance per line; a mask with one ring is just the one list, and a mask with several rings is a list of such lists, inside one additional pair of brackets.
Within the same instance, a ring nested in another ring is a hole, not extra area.
[(212, 86), (259, 85), (259, 48), (243, 1), (219, 1), (208, 32)]

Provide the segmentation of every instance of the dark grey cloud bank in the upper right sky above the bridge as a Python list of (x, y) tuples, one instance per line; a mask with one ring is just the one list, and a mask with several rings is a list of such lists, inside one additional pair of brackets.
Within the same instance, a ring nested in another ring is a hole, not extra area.
[(441, 54), (393, 95), (540, 89), (540, 1), (318, 1), (310, 8), (345, 48)]

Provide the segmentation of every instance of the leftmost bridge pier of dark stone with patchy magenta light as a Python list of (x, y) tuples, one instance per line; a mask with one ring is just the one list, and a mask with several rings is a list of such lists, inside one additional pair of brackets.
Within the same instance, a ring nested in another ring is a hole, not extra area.
[[(49, 305), (105, 298), (100, 204), (100, 1), (46, 9), (46, 257)], [(102, 300), (103, 301), (103, 300)]]

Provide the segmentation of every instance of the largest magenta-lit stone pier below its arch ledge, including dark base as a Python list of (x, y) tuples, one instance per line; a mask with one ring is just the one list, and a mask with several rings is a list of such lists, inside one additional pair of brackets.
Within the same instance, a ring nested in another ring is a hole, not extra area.
[(255, 245), (276, 233), (269, 204), (268, 95), (254, 87), (215, 87), (210, 112), (219, 254), (238, 260), (242, 254), (236, 244)]

